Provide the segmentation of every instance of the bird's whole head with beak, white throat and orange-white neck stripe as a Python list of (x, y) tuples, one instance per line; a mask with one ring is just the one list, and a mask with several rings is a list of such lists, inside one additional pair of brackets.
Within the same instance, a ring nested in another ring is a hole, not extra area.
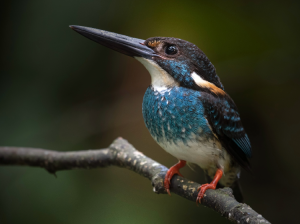
[(215, 67), (196, 45), (173, 37), (132, 38), (99, 29), (70, 26), (81, 35), (140, 61), (156, 90), (182, 86), (223, 94)]

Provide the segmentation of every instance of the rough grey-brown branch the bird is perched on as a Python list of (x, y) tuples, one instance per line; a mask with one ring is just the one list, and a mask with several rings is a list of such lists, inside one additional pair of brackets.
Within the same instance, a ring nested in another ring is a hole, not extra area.
[[(133, 170), (152, 181), (153, 191), (165, 194), (163, 186), (167, 167), (146, 157), (122, 138), (116, 139), (107, 149), (77, 152), (57, 152), (23, 147), (0, 147), (0, 165), (37, 166), (55, 173), (59, 170), (90, 169), (115, 165)], [(193, 202), (197, 198), (198, 183), (175, 176), (171, 192)], [(233, 223), (270, 223), (250, 206), (238, 203), (230, 188), (207, 190), (202, 200), (207, 206)]]

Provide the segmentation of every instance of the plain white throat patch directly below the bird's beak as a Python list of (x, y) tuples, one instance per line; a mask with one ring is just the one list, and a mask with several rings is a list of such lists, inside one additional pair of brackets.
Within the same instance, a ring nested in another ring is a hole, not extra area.
[(142, 57), (134, 57), (141, 62), (151, 75), (151, 85), (156, 91), (164, 91), (170, 87), (178, 86), (173, 77), (163, 70), (156, 62)]

